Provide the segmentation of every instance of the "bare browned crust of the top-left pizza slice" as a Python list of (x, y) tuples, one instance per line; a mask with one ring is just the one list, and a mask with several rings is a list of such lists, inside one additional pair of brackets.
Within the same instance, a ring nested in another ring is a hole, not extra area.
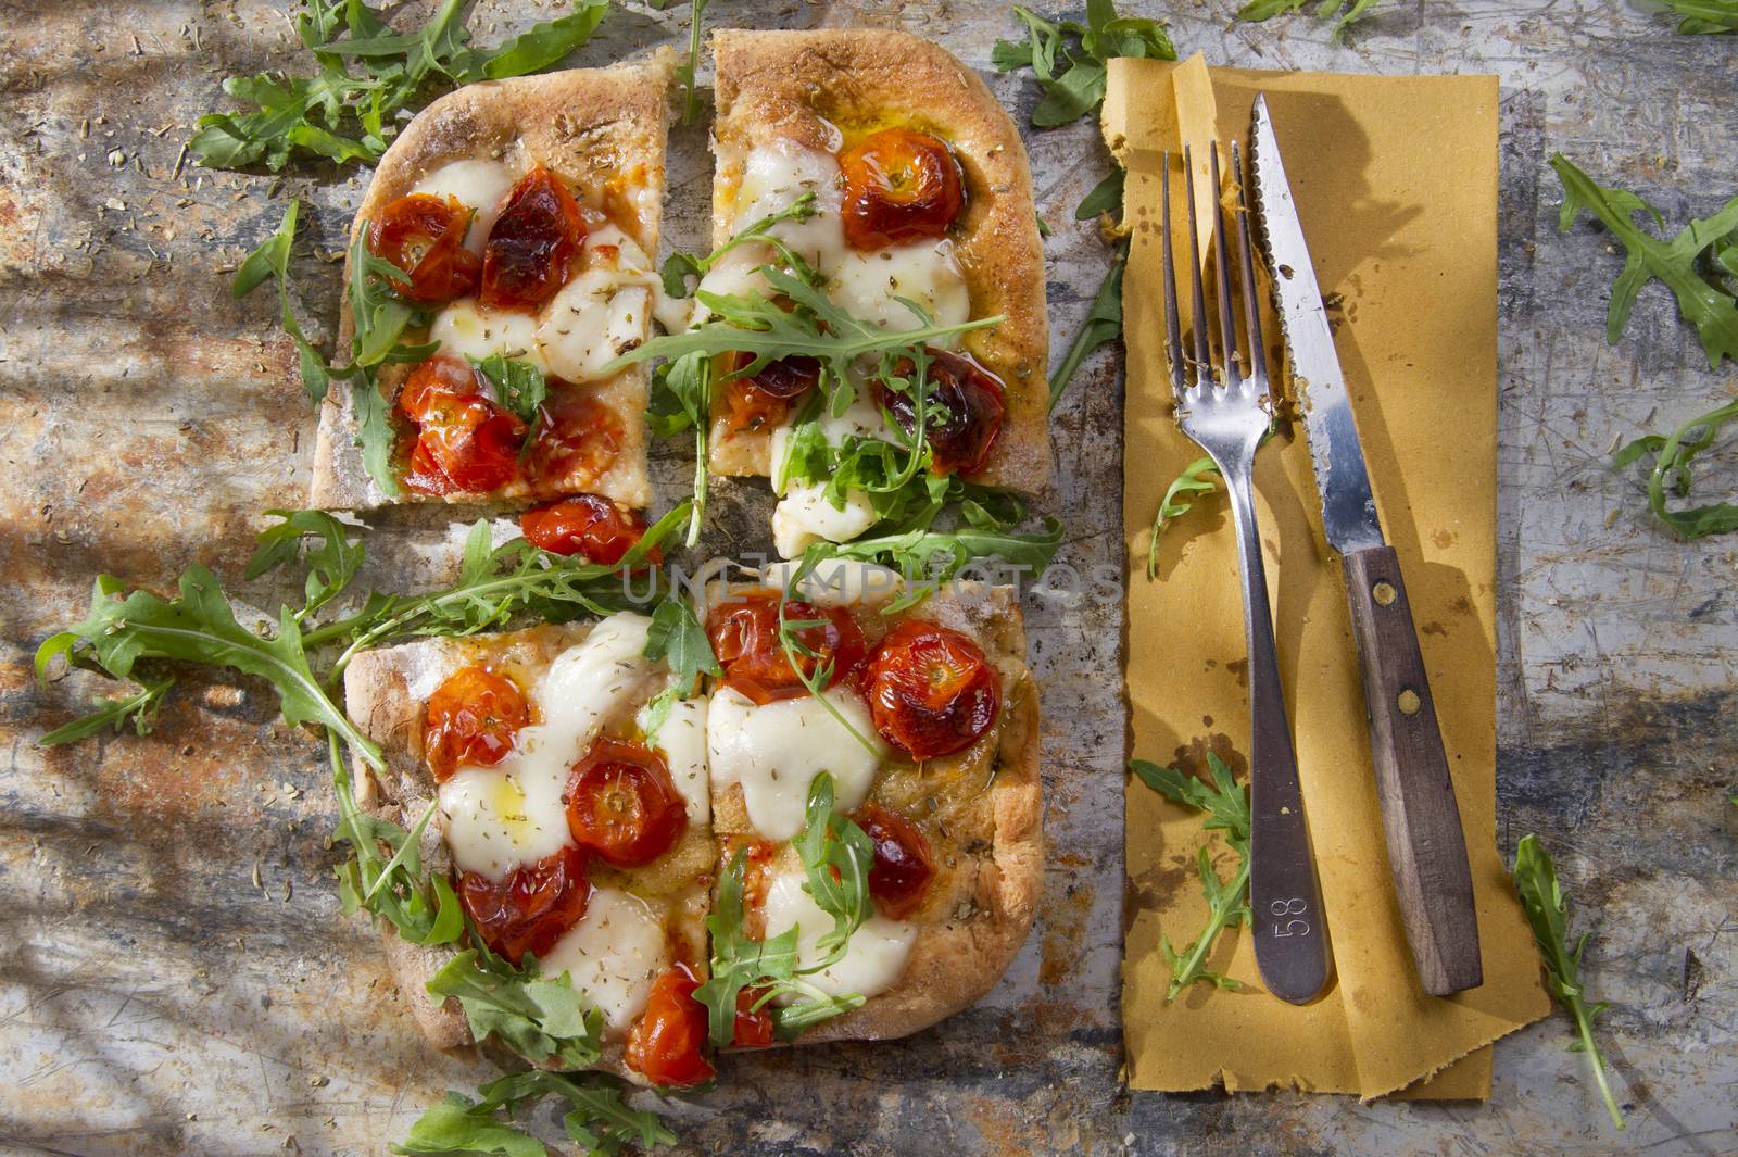
[[(351, 241), (388, 203), (410, 193), (429, 172), (455, 160), (504, 160), (520, 170), (542, 163), (567, 177), (587, 205), (603, 208), (640, 247), (657, 255), (664, 205), (664, 142), (667, 92), (674, 69), (671, 49), (641, 64), (579, 68), (466, 85), (448, 92), (393, 141), (381, 158), (368, 195), (356, 210)], [(348, 262), (346, 262), (348, 274)], [(355, 332), (349, 302), (339, 321), (339, 351), (348, 354)], [(408, 367), (388, 367), (381, 384), (396, 394)], [(601, 493), (624, 506), (652, 502), (647, 479), (645, 405), (650, 370), (629, 367), (607, 382), (586, 386), (622, 420), (617, 459), (600, 478), (574, 490)], [(476, 495), (436, 495), (403, 490), (388, 497), (368, 478), (356, 445), (356, 413), (349, 384), (334, 380), (320, 407), (309, 506), (374, 509), (395, 502), (478, 502)], [(523, 483), (490, 502), (521, 502)]]

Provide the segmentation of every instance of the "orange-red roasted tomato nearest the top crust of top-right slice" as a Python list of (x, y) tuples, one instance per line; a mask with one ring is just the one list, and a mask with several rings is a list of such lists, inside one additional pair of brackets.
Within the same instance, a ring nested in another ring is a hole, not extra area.
[(883, 129), (839, 153), (845, 240), (857, 250), (942, 236), (966, 203), (952, 151), (914, 129)]

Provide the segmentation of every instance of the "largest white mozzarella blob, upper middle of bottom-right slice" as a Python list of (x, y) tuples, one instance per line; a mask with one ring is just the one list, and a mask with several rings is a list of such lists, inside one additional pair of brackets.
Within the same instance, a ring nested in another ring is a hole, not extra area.
[[(706, 721), (713, 782), (742, 785), (749, 823), (766, 839), (791, 839), (803, 830), (808, 785), (822, 771), (833, 773), (839, 811), (860, 804), (886, 756), (859, 695), (836, 686), (826, 697), (857, 735), (812, 695), (765, 705), (732, 688), (713, 695)], [(876, 752), (866, 749), (859, 735), (874, 744)]]

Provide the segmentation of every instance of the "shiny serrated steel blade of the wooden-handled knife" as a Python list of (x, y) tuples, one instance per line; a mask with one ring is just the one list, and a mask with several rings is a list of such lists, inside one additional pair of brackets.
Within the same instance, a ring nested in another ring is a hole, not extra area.
[(1279, 160), (1265, 96), (1255, 99), (1250, 167), (1260, 205), (1262, 247), (1279, 297), (1279, 328), (1291, 354), (1293, 380), (1302, 387), (1304, 429), (1321, 492), (1323, 530), (1340, 554), (1382, 545), (1385, 539), (1376, 500), (1370, 493), (1364, 446), (1357, 441), (1352, 401), (1345, 393), (1340, 356), (1333, 351), (1333, 330), (1321, 304), (1316, 266), (1304, 241), (1286, 167)]

